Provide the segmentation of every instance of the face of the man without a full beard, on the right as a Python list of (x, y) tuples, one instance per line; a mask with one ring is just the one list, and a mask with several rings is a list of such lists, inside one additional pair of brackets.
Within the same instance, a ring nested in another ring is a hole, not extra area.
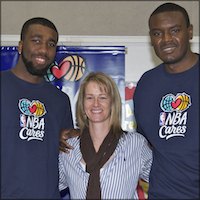
[(155, 53), (165, 64), (176, 64), (190, 52), (192, 25), (187, 27), (181, 12), (170, 11), (153, 15), (149, 23)]

